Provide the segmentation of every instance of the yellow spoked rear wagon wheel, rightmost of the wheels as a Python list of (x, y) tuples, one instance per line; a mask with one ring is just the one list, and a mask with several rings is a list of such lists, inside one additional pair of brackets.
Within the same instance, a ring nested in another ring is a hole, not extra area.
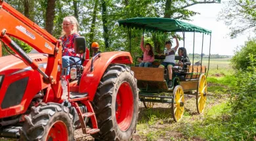
[(207, 80), (204, 74), (201, 74), (198, 82), (198, 91), (196, 93), (196, 109), (198, 114), (202, 114), (205, 108), (207, 97)]

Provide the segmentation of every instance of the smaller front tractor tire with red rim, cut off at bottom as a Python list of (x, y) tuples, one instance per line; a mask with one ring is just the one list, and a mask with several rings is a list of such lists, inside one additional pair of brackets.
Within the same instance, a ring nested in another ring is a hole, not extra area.
[(73, 116), (67, 107), (56, 103), (40, 103), (25, 116), (20, 140), (74, 140)]

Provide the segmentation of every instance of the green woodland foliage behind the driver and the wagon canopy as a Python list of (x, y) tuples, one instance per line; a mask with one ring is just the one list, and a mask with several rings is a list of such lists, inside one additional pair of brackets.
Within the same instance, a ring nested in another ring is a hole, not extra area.
[[(35, 22), (41, 27), (45, 27), (45, 14), (47, 10), (47, 0), (26, 0), (29, 2), (30, 12), (28, 17), (30, 20)], [(74, 1), (77, 5), (77, 9), (74, 7)], [(96, 3), (96, 1), (98, 1)], [(8, 0), (12, 7), (16, 8), (19, 12), (24, 14), (24, 1), (21, 0)], [(21, 5), (22, 3), (22, 5)], [(104, 5), (102, 5), (104, 3)], [(179, 20), (190, 20), (191, 16), (198, 14), (192, 10), (186, 9), (192, 5), (202, 3), (219, 3), (216, 0), (89, 0), (89, 1), (77, 1), (77, 0), (65, 0), (56, 1), (54, 25), (53, 25), (53, 36), (56, 38), (60, 37), (62, 30), (61, 24), (65, 16), (74, 15), (77, 10), (77, 20), (79, 22), (79, 34), (84, 36), (87, 40), (87, 46), (90, 46), (91, 41), (96, 41), (100, 45), (100, 50), (103, 52), (125, 50), (129, 51), (129, 34), (127, 29), (119, 27), (117, 20), (125, 18), (135, 17), (163, 17), (168, 15), (167, 18), (176, 18)], [(167, 5), (168, 4), (168, 5)], [(94, 7), (98, 8), (95, 11), (96, 20), (93, 20), (95, 14), (93, 13)], [(102, 8), (106, 10), (105, 18), (102, 18)], [(106, 8), (106, 9), (105, 9)], [(102, 20), (105, 19), (103, 22)], [(95, 21), (95, 23), (94, 23)], [(95, 26), (92, 26), (94, 24)], [(94, 30), (92, 30), (93, 28)], [(107, 33), (106, 33), (107, 32)], [(89, 39), (90, 35), (93, 39)], [(145, 33), (148, 42), (154, 45), (154, 33)], [(132, 29), (131, 33), (131, 53), (135, 57), (136, 53), (142, 54), (139, 44), (142, 31)], [(155, 48), (163, 50), (163, 35), (159, 34), (156, 36)], [(106, 48), (106, 38), (108, 48)], [(170, 39), (171, 35), (167, 35), (166, 40)], [(22, 46), (23, 47), (23, 46)]]

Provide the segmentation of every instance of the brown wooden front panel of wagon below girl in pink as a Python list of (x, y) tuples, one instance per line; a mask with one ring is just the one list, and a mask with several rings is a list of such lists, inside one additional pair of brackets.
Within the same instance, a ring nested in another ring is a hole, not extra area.
[(137, 80), (163, 82), (163, 69), (150, 67), (131, 67)]

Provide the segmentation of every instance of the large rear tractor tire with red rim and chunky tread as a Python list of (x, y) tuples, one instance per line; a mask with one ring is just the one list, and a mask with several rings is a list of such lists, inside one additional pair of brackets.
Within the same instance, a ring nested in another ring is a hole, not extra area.
[(139, 116), (139, 89), (131, 68), (110, 65), (104, 72), (93, 101), (99, 133), (95, 140), (130, 140)]

